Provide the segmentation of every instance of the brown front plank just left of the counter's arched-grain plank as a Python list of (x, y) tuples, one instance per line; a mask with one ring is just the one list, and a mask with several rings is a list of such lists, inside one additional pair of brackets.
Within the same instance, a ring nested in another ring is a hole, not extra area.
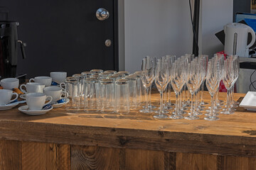
[(70, 169), (70, 146), (22, 142), (22, 169)]

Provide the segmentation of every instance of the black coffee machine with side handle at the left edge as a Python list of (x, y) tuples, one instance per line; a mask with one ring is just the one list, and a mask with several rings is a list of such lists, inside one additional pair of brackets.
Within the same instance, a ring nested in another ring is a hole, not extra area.
[(26, 57), (24, 44), (18, 40), (18, 22), (0, 21), (0, 79), (17, 77), (18, 43), (23, 59)]

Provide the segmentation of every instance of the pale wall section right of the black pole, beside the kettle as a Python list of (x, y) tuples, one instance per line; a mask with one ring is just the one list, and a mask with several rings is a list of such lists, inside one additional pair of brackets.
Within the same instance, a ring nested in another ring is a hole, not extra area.
[(213, 56), (224, 50), (223, 44), (215, 36), (223, 26), (233, 22), (233, 0), (203, 0), (201, 7), (201, 50)]

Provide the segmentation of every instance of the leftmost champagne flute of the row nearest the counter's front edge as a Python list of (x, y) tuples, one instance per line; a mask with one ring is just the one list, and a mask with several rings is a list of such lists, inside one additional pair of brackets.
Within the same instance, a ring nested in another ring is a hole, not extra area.
[(156, 62), (156, 88), (159, 90), (160, 93), (160, 110), (156, 111), (155, 113), (159, 113), (159, 115), (154, 115), (154, 118), (168, 118), (166, 113), (163, 110), (163, 92), (166, 89), (166, 86), (169, 81), (169, 67), (168, 62), (165, 59), (157, 60)]

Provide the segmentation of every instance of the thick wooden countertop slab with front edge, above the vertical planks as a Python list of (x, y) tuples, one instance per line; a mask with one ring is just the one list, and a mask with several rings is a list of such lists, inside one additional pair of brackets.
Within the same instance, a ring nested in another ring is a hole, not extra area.
[[(220, 93), (220, 99), (225, 96)], [(235, 94), (235, 100), (242, 96)], [(204, 98), (209, 101), (208, 93)], [(159, 103), (159, 94), (152, 100)], [(63, 108), (38, 116), (17, 108), (0, 113), (0, 137), (7, 140), (256, 157), (256, 114), (242, 108), (218, 121), (203, 120), (203, 115), (200, 120), (156, 120), (154, 113), (139, 111), (70, 114)]]

